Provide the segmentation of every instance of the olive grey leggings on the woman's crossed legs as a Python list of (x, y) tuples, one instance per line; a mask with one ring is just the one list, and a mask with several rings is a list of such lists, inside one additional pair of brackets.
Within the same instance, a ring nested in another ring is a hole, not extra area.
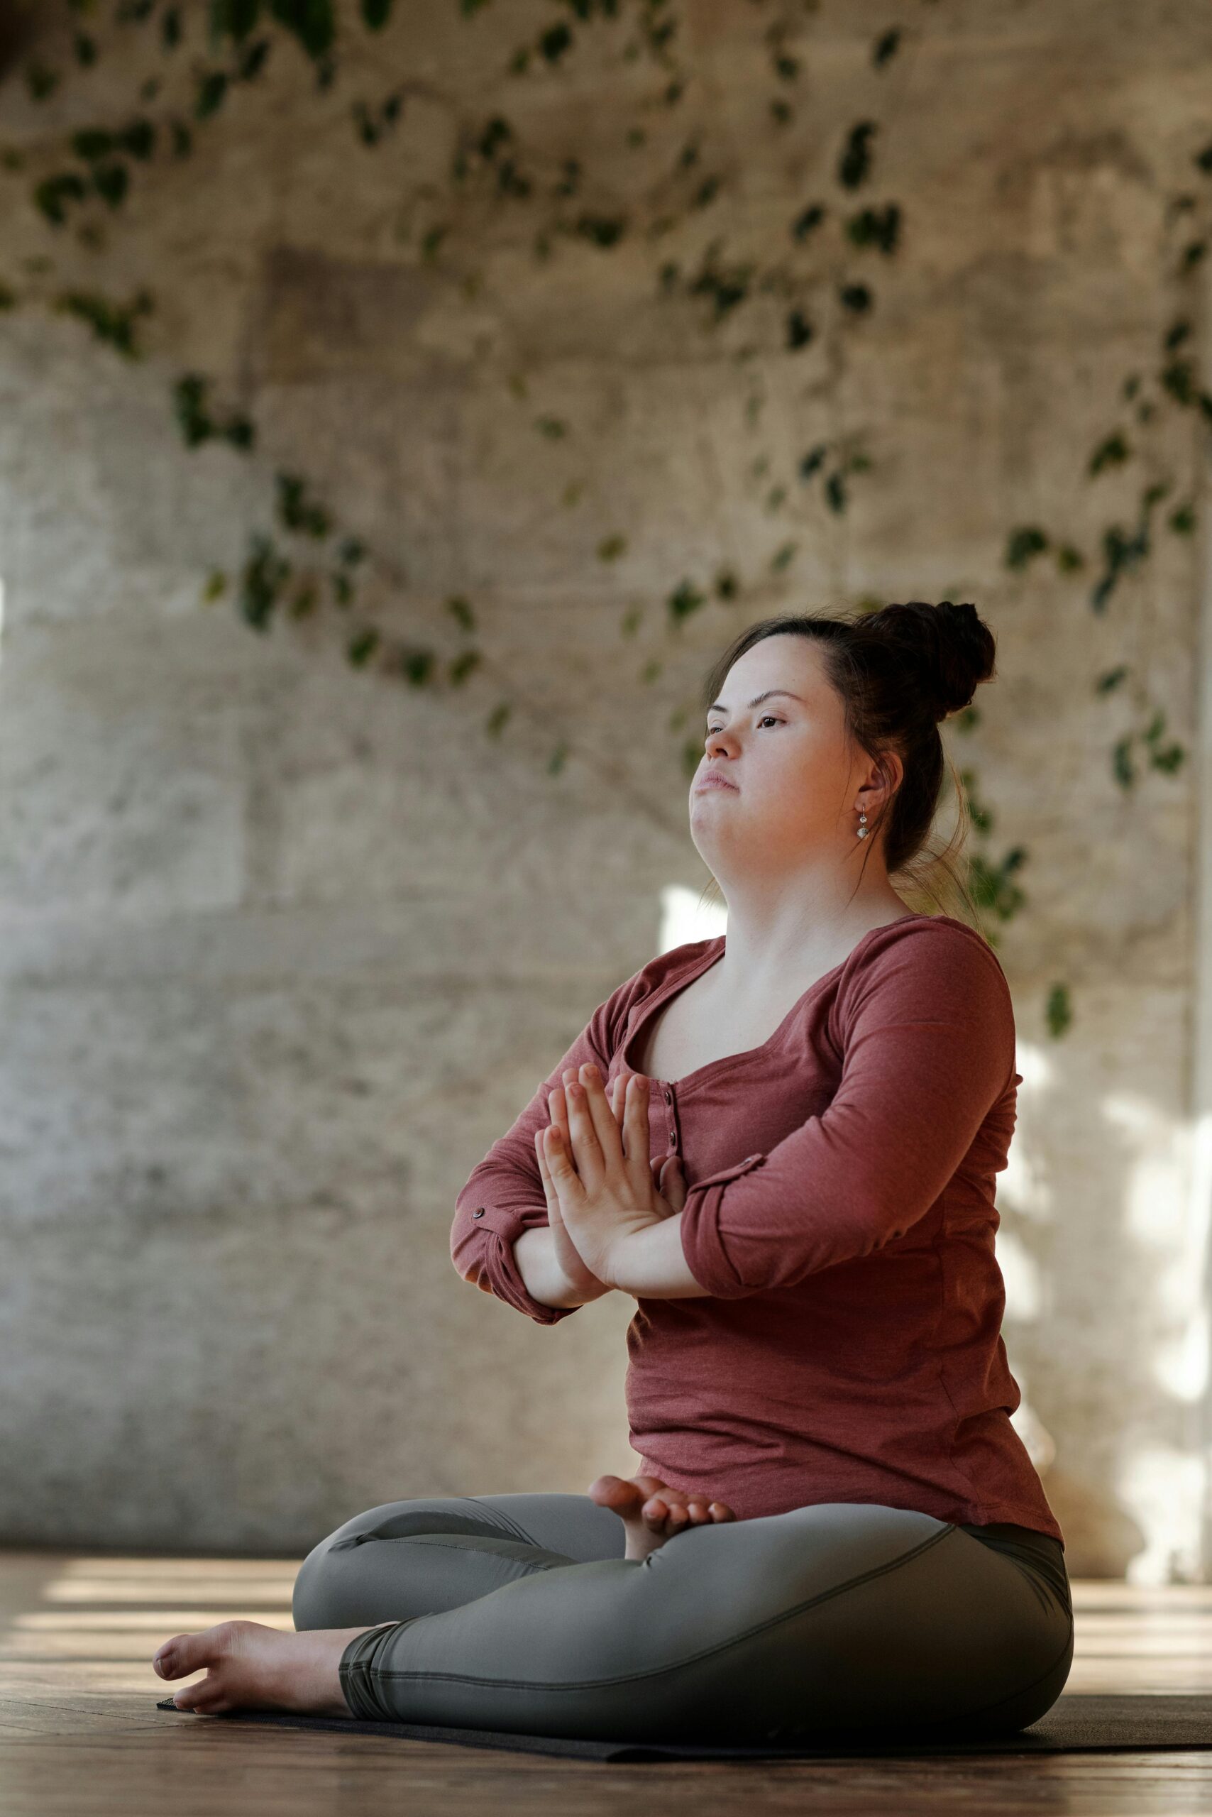
[(293, 1613), (376, 1624), (342, 1655), (356, 1717), (591, 1741), (1007, 1733), (1074, 1650), (1048, 1534), (841, 1501), (641, 1563), (589, 1495), (389, 1501), (309, 1552)]

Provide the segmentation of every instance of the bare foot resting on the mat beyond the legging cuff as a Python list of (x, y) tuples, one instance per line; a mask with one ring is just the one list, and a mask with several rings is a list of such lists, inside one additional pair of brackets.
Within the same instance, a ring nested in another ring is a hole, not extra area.
[[(374, 1626), (374, 1624), (373, 1624)], [(349, 1715), (338, 1666), (365, 1628), (311, 1628), (302, 1633), (260, 1621), (220, 1621), (200, 1633), (174, 1633), (153, 1655), (162, 1679), (205, 1677), (173, 1699), (178, 1710), (216, 1715), (220, 1710), (303, 1710)]]

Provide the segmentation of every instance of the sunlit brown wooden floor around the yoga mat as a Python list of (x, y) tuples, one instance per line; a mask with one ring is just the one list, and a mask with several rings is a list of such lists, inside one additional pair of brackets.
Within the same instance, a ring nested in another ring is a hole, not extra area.
[[(1190, 1753), (609, 1766), (156, 1710), (185, 1683), (151, 1670), (160, 1641), (236, 1615), (289, 1628), (298, 1564), (0, 1552), (2, 1817), (1212, 1812), (1212, 1741)], [(1212, 1586), (1078, 1581), (1074, 1612), (1067, 1692), (1212, 1692)]]

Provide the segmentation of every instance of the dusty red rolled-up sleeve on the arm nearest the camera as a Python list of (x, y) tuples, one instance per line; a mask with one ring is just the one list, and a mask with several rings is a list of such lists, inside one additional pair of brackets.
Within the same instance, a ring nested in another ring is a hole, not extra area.
[(829, 1107), (687, 1190), (681, 1250), (716, 1299), (794, 1286), (905, 1236), (1014, 1079), (1010, 992), (979, 936), (943, 928), (890, 943), (852, 979), (838, 1018)]

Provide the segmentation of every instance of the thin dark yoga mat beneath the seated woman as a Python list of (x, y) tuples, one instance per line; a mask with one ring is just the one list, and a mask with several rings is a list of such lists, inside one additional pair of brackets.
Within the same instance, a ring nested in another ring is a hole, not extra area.
[[(174, 1710), (164, 1697), (156, 1710)], [(193, 1712), (182, 1710), (180, 1715)], [(1212, 1750), (1212, 1695), (1061, 1695), (1052, 1708), (1014, 1735), (988, 1741), (836, 1741), (790, 1748), (698, 1748), (694, 1743), (567, 1741), (563, 1735), (509, 1735), (489, 1728), (431, 1728), (425, 1723), (362, 1723), (340, 1715), (293, 1715), (287, 1710), (227, 1710), (209, 1723), (273, 1723), (278, 1728), (323, 1728), (340, 1735), (400, 1735), (443, 1741), (458, 1748), (507, 1748), (512, 1753), (561, 1753), (578, 1761), (803, 1761), (827, 1753), (1143, 1753), (1150, 1748)]]

